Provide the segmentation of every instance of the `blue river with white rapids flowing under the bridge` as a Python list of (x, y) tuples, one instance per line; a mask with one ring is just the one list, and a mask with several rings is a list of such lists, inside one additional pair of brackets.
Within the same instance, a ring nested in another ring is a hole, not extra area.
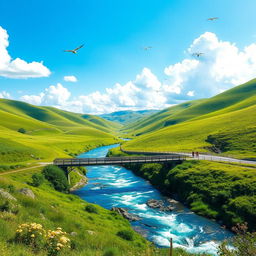
[[(118, 145), (99, 147), (79, 157), (104, 157), (109, 149)], [(207, 252), (216, 255), (217, 245), (232, 233), (219, 224), (200, 217), (182, 204), (171, 212), (152, 209), (147, 200), (164, 200), (149, 182), (120, 166), (87, 167), (89, 183), (74, 193), (82, 199), (101, 205), (106, 209), (124, 207), (141, 218), (131, 222), (133, 228), (160, 247), (169, 247), (173, 238), (174, 247), (189, 252)]]

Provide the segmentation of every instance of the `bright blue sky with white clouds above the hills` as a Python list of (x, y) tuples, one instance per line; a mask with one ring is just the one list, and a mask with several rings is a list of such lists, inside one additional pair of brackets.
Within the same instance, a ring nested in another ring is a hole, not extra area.
[(102, 114), (214, 96), (256, 78), (255, 9), (255, 0), (0, 1), (0, 98)]

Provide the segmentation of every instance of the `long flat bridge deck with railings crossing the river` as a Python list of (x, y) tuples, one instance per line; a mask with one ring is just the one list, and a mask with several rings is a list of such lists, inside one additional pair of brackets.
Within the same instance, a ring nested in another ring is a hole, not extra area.
[(179, 154), (133, 156), (133, 157), (100, 157), (100, 158), (57, 158), (54, 165), (60, 167), (90, 166), (90, 165), (121, 165), (131, 163), (164, 163), (170, 161), (183, 161), (187, 156)]

